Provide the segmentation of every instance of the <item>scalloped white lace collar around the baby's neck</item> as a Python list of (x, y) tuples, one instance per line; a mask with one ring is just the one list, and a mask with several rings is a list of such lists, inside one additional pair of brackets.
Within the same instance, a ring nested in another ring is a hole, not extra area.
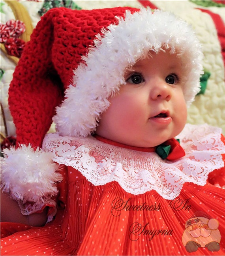
[(89, 136), (83, 139), (47, 134), (43, 150), (53, 160), (78, 169), (94, 185), (117, 181), (131, 194), (156, 190), (165, 199), (180, 194), (186, 182), (206, 184), (208, 174), (224, 166), (221, 129), (187, 124), (177, 136), (186, 156), (162, 160), (155, 152), (141, 152), (109, 145)]

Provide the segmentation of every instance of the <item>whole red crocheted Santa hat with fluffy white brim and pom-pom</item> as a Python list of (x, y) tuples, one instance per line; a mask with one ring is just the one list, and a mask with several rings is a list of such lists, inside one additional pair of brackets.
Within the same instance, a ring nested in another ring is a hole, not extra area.
[[(5, 151), (8, 160), (16, 161), (9, 164), (4, 160), (2, 174), (6, 176), (9, 166), (15, 168), (13, 165), (23, 173), (40, 169), (40, 177), (52, 173), (54, 187), (60, 177), (51, 161), (42, 164), (44, 153), (39, 150), (52, 119), (60, 136), (90, 135), (101, 113), (109, 107), (107, 98), (125, 83), (126, 67), (148, 51), (161, 48), (182, 58), (186, 69), (184, 95), (190, 105), (199, 92), (202, 52), (186, 22), (168, 12), (152, 13), (148, 8), (48, 11), (34, 29), (9, 88), (17, 149)], [(19, 160), (22, 156), (24, 159)], [(53, 166), (52, 171), (45, 166)], [(12, 172), (9, 179), (17, 177)], [(13, 189), (11, 181), (3, 184), (6, 191)]]

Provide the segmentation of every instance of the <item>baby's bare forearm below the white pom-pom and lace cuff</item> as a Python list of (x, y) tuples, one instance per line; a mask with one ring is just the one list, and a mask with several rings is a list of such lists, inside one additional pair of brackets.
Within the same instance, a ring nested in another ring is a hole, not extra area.
[(23, 215), (17, 201), (10, 198), (9, 194), (1, 191), (1, 222), (18, 222), (30, 226), (44, 226), (47, 222), (47, 210), (45, 207), (41, 213)]

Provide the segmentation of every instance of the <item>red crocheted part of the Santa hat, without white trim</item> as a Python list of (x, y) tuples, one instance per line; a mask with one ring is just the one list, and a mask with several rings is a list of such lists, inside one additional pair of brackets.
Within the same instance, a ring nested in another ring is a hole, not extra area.
[(101, 28), (116, 23), (134, 8), (49, 10), (37, 24), (15, 68), (9, 87), (9, 109), (16, 126), (17, 146), (41, 147), (55, 107), (72, 81), (73, 70), (93, 46)]

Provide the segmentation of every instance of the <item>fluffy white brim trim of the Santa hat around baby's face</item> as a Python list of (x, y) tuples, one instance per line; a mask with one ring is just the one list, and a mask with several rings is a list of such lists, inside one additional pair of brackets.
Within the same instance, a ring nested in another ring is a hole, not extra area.
[(56, 130), (61, 136), (86, 137), (96, 128), (100, 115), (109, 107), (107, 98), (119, 90), (124, 70), (135, 64), (148, 51), (162, 47), (179, 54), (186, 69), (184, 96), (187, 106), (200, 88), (202, 74), (201, 45), (191, 27), (172, 13), (150, 8), (118, 17), (96, 36), (95, 47), (83, 57), (74, 72), (73, 85), (66, 90), (65, 100), (56, 108)]

